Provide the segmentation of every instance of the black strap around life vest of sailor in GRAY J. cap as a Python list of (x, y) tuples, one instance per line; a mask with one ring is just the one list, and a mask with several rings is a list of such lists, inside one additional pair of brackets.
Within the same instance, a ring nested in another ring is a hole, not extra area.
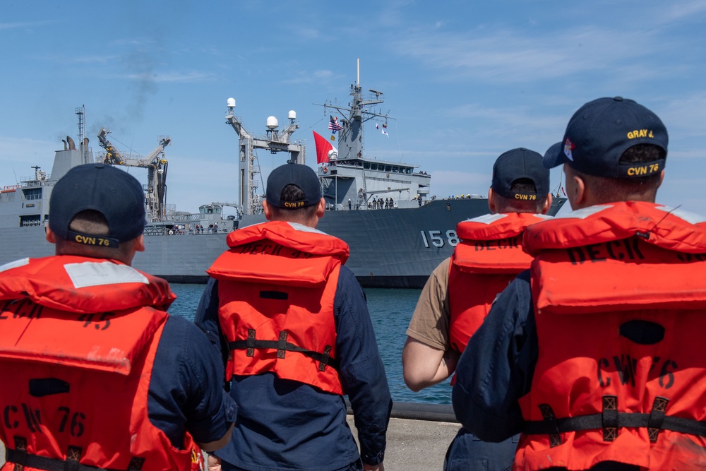
[(666, 415), (669, 399), (655, 398), (650, 413), (617, 412), (615, 399), (616, 396), (604, 396), (602, 413), (561, 419), (554, 417), (554, 411), (548, 404), (539, 405), (544, 419), (526, 421), (523, 432), (527, 435), (549, 435), (551, 447), (561, 445), (561, 436), (558, 434), (597, 429), (603, 429), (604, 441), (614, 441), (618, 429), (639, 427), (647, 428), (652, 443), (657, 441), (659, 431), (662, 430), (706, 437), (706, 421)]

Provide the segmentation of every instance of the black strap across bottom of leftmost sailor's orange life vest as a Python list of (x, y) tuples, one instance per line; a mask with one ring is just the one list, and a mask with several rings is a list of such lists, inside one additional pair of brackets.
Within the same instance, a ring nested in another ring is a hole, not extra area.
[[(125, 471), (80, 464), (78, 461), (82, 450), (78, 446), (68, 447), (66, 460), (27, 453), (27, 441), (22, 437), (15, 437), (15, 447), (14, 449), (5, 448), (5, 461), (15, 465), (13, 471), (23, 471), (25, 467), (43, 471)], [(145, 458), (132, 458), (127, 471), (140, 471), (144, 464)]]

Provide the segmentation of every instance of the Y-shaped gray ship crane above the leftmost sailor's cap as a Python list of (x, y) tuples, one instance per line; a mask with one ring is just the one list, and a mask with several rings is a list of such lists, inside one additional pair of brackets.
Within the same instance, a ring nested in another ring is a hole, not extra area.
[(104, 163), (147, 169), (148, 184), (145, 189), (145, 205), (148, 217), (154, 222), (164, 220), (167, 205), (167, 165), (164, 148), (172, 143), (169, 136), (160, 136), (160, 143), (147, 156), (139, 159), (125, 157), (108, 140), (109, 129), (101, 128), (98, 133), (100, 146), (105, 149)]

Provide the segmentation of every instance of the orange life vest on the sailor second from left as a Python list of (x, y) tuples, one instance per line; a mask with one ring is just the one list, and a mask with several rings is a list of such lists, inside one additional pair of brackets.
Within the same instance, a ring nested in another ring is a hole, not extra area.
[(270, 371), (342, 394), (333, 302), (348, 245), (281, 221), (238, 229), (227, 242), (208, 269), (229, 342), (226, 379)]

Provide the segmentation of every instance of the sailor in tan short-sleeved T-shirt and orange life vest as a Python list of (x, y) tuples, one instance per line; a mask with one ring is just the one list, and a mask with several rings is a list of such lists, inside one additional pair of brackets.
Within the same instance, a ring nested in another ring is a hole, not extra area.
[[(522, 232), (545, 220), (551, 206), (549, 170), (542, 155), (517, 148), (498, 157), (488, 191), (491, 214), (459, 222), (453, 256), (427, 280), (407, 329), (402, 350), (405, 383), (414, 390), (453, 374), (468, 339), (481, 325), (493, 299), (532, 258), (522, 251)], [(467, 470), (486, 460), (487, 470), (506, 470), (517, 437), (484, 443), (460, 429), (446, 454), (445, 470)]]

